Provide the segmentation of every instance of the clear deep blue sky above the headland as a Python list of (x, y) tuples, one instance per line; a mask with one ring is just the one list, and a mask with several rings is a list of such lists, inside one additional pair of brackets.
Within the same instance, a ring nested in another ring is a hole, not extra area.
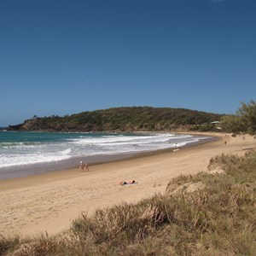
[(1, 0), (0, 126), (256, 96), (255, 0)]

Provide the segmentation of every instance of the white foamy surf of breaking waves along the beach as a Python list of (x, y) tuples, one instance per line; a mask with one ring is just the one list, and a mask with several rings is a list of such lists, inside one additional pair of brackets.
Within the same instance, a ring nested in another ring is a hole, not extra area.
[[(206, 137), (203, 137), (206, 138)], [(67, 160), (77, 156), (98, 154), (120, 154), (154, 151), (161, 148), (182, 147), (195, 143), (198, 138), (190, 135), (91, 135), (78, 134), (77, 137), (51, 143), (0, 143), (0, 168), (48, 163)]]

